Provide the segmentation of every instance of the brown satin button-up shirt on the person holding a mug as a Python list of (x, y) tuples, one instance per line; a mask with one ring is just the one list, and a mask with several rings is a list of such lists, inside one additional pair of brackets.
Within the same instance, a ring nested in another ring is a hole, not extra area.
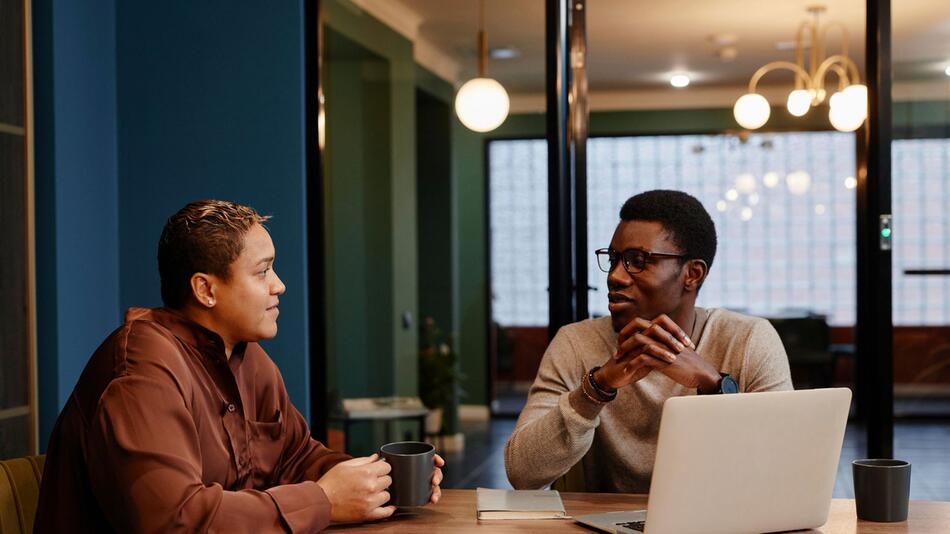
[(257, 343), (131, 308), (50, 438), (35, 532), (315, 532), (314, 482), (349, 456), (310, 437)]

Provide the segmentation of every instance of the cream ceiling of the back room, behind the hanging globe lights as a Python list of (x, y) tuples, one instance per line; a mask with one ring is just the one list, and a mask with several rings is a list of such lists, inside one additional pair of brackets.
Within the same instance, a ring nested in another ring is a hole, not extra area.
[[(417, 43), (433, 48), (443, 63), (454, 65), (455, 82), (475, 74), (478, 3), (474, 0), (354, 0), (412, 20)], [(742, 87), (769, 61), (794, 60), (798, 24), (808, 20), (814, 0), (587, 0), (588, 78), (592, 93), (670, 88), (674, 72), (687, 73), (690, 87)], [(542, 0), (485, 0), (489, 48), (513, 47), (514, 59), (492, 59), (488, 75), (510, 93), (544, 90), (544, 4)], [(764, 6), (768, 6), (767, 9)], [(829, 0), (823, 23), (840, 21), (850, 33), (851, 57), (864, 62), (863, 0)], [(398, 9), (397, 9), (398, 8)], [(950, 1), (893, 2), (895, 81), (950, 81)], [(826, 48), (836, 51), (841, 39), (829, 29)], [(723, 43), (735, 58), (719, 56)], [(762, 84), (787, 84), (791, 73), (776, 72)], [(948, 83), (950, 87), (950, 83)]]

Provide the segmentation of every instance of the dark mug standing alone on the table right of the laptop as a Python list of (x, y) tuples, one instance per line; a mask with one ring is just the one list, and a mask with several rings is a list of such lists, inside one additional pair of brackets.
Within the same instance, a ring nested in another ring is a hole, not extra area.
[(910, 462), (855, 460), (851, 465), (858, 519), (888, 523), (906, 521), (910, 500)]

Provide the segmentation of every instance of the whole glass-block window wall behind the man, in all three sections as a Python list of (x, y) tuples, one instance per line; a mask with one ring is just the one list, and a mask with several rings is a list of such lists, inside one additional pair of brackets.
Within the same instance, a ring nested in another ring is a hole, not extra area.
[[(543, 139), (489, 144), (493, 316), (545, 325), (547, 151)], [(855, 136), (839, 132), (594, 138), (588, 144), (590, 314), (606, 315), (593, 250), (620, 206), (650, 189), (697, 197), (719, 247), (699, 305), (760, 316), (809, 311), (855, 321)], [(894, 323), (950, 324), (950, 278), (905, 269), (950, 265), (950, 140), (893, 144)]]

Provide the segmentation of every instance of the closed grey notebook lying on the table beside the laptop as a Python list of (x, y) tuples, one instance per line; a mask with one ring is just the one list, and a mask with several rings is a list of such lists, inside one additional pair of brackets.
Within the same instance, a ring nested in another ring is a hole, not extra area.
[(475, 490), (479, 519), (570, 519), (554, 490)]

